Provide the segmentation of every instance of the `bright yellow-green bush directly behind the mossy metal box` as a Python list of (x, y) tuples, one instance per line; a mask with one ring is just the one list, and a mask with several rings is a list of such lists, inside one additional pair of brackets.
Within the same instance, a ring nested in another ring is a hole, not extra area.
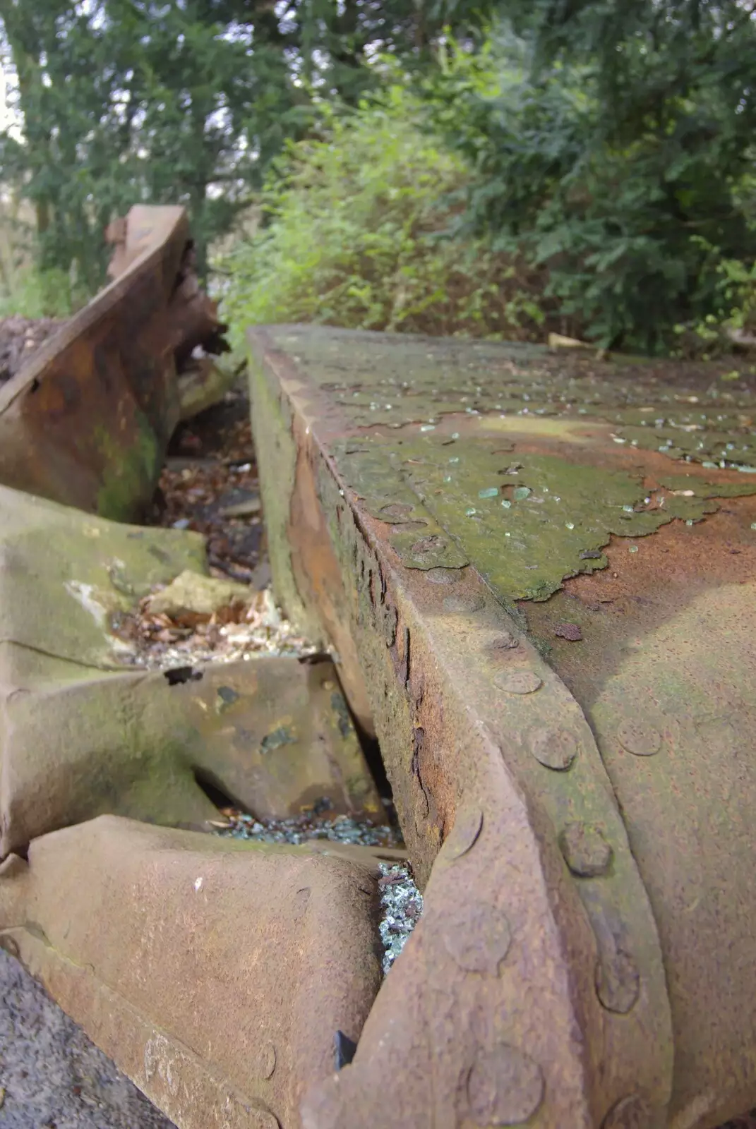
[(394, 85), (356, 112), (324, 108), (269, 181), (268, 222), (221, 264), (224, 315), (435, 334), (527, 336), (540, 280), (480, 239), (449, 239), (463, 160)]

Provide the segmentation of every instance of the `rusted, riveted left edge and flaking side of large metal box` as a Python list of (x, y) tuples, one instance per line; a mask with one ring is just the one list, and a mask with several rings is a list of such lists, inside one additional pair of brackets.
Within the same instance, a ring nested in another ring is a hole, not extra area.
[[(341, 576), (336, 627), (355, 640), (410, 858), (427, 881), (424, 917), (355, 1064), (312, 1099), (305, 1124), (346, 1126), (350, 1109), (377, 1109), (379, 1060), (397, 1067), (410, 1053), (405, 1073), (418, 1100), (408, 1126), (515, 1123), (476, 1121), (512, 1114), (480, 1109), (484, 1091), (504, 1088), (502, 1071), (519, 1112), (531, 1105), (516, 1123), (666, 1124), (672, 1042), (658, 931), (580, 706), (472, 569), (444, 570), (449, 583), (436, 584), (398, 562), (384, 524), (328, 453), (331, 439), (356, 430), (264, 329), (250, 344), (255, 439), (286, 435), (290, 511), (306, 498), (309, 528), (297, 539), (289, 524), (298, 577), (284, 578), (281, 595), (295, 618), (301, 609), (312, 616), (319, 594), (299, 589), (313, 572), (314, 531), (319, 562), (328, 541)], [(275, 514), (280, 479), (266, 471), (263, 458), (266, 511)], [(344, 681), (349, 690), (358, 672)], [(601, 856), (588, 864), (579, 857), (586, 841)], [(450, 918), (471, 937), (462, 953)], [(415, 1017), (407, 994), (424, 1000)]]

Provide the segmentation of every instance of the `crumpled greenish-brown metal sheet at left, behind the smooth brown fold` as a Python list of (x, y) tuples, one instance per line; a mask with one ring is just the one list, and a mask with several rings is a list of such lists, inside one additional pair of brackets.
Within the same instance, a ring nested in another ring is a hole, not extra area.
[(201, 579), (197, 534), (0, 487), (0, 856), (101, 813), (202, 826), (201, 784), (262, 819), (381, 822), (331, 662), (118, 668), (108, 622), (186, 566)]

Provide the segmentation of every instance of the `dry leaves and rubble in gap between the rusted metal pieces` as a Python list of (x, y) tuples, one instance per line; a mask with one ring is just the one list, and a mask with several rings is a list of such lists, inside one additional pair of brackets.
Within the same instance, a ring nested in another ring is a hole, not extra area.
[(111, 619), (122, 660), (147, 669), (229, 663), (316, 648), (281, 616), (264, 554), (249, 403), (240, 390), (182, 425), (160, 475), (153, 520), (202, 534), (209, 576), (185, 571)]

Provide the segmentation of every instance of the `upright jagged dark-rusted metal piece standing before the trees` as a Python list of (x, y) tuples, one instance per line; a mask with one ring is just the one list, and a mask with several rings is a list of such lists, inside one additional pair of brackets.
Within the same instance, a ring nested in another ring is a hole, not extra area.
[(127, 520), (179, 422), (177, 373), (225, 345), (182, 208), (134, 207), (108, 235), (114, 281), (0, 387), (0, 482)]

